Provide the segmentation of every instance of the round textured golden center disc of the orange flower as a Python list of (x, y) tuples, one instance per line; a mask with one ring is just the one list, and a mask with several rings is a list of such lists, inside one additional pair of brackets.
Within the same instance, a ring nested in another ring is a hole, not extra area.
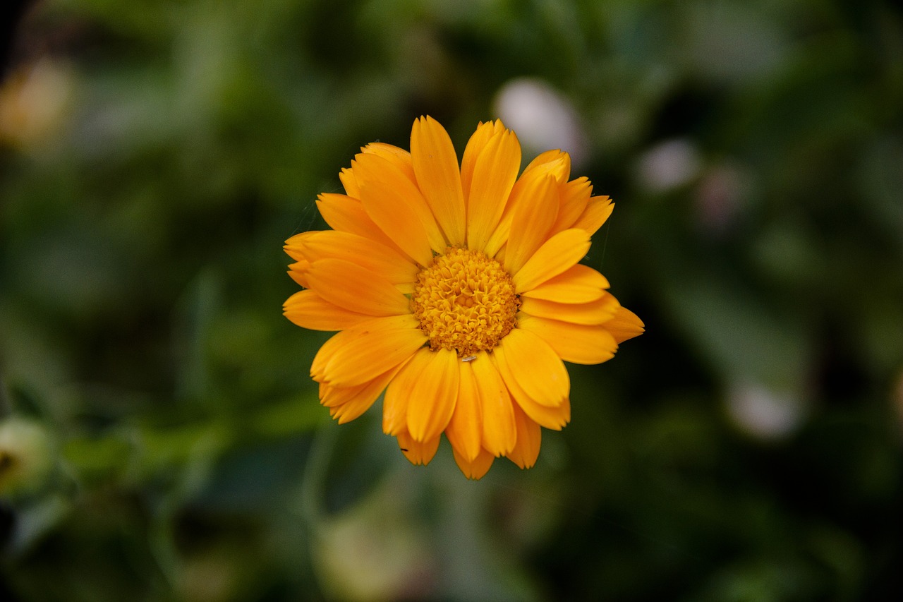
[(450, 247), (417, 274), (411, 306), (433, 351), (453, 349), (464, 358), (492, 350), (514, 328), (514, 291), (498, 261)]

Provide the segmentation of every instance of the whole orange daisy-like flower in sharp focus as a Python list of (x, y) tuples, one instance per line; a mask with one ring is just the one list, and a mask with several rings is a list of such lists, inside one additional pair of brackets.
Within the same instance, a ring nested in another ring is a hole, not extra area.
[(496, 457), (533, 466), (541, 427), (571, 419), (564, 362), (609, 360), (643, 332), (598, 271), (578, 262), (611, 214), (553, 150), (524, 173), (517, 136), (481, 123), (461, 166), (433, 118), (411, 152), (381, 143), (342, 169), (345, 194), (318, 199), (332, 230), (286, 241), (305, 290), (286, 317), (340, 331), (311, 366), (321, 403), (347, 422), (380, 393), (383, 430), (415, 465), (442, 433), (469, 478)]

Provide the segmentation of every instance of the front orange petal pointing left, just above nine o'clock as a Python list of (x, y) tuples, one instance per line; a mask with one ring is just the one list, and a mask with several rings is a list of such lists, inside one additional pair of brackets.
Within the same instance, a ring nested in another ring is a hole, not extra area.
[(307, 281), (331, 304), (365, 315), (403, 315), (410, 301), (386, 278), (343, 259), (318, 259), (307, 270)]

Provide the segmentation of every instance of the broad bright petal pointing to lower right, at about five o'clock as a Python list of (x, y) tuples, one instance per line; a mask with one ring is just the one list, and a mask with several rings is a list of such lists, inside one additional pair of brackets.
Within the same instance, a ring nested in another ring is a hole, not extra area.
[(568, 398), (571, 381), (567, 369), (558, 354), (537, 334), (515, 328), (498, 344), (494, 355), (498, 366), (505, 367), (536, 403), (555, 408)]

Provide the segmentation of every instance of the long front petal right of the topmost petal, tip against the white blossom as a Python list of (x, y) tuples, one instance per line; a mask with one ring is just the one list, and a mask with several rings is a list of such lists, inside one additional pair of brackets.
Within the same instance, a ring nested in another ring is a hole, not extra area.
[(520, 143), (510, 130), (500, 132), (477, 157), (467, 200), (467, 246), (483, 250), (498, 226), (508, 194), (520, 171)]

